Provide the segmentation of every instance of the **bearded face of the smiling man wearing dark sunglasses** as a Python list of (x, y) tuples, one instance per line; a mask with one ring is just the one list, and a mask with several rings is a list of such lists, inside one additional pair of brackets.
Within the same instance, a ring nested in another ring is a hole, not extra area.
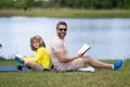
[(67, 33), (67, 27), (65, 25), (60, 25), (56, 32), (57, 32), (58, 37), (64, 39)]

